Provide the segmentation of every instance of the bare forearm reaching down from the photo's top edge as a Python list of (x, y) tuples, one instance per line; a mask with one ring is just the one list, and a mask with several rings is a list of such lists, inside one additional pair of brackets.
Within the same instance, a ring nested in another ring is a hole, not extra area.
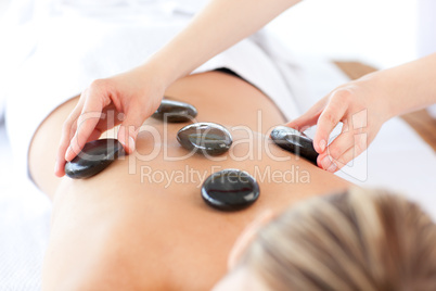
[(211, 0), (145, 65), (158, 67), (164, 83), (169, 85), (297, 2), (299, 0)]

